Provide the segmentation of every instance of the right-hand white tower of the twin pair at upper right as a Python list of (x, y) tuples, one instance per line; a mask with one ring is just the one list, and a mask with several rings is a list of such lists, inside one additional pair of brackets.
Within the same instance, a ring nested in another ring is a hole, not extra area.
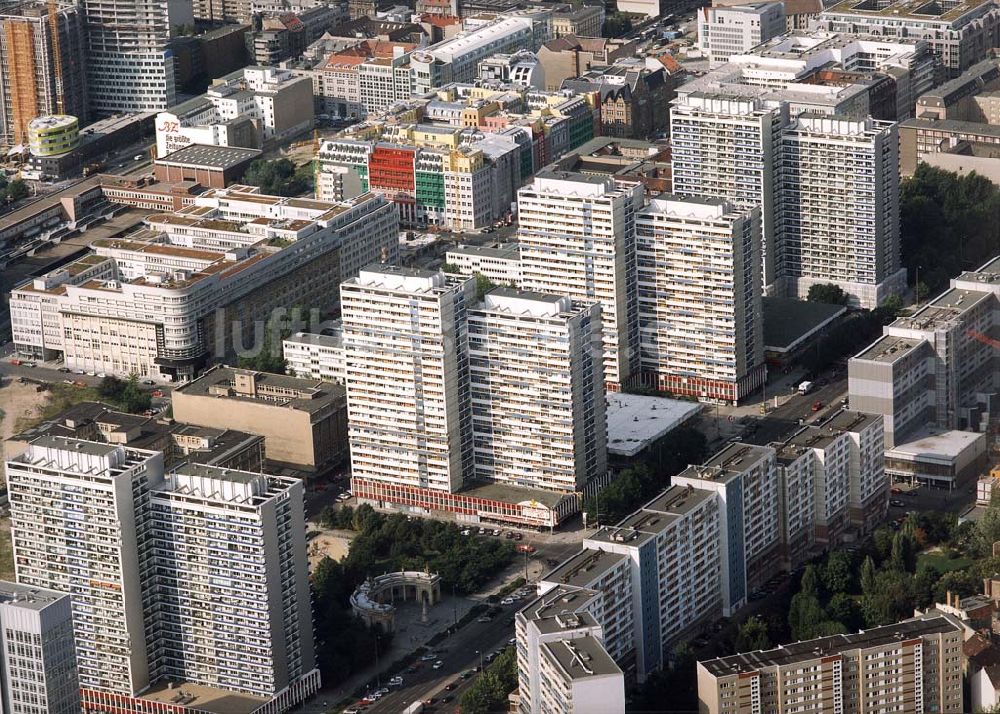
[(868, 309), (902, 293), (896, 124), (802, 114), (781, 155), (785, 292), (833, 283)]

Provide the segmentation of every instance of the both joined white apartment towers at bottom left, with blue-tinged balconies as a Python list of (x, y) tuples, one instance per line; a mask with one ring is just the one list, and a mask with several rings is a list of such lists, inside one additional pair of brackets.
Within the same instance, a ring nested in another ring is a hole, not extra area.
[(18, 582), (69, 596), (84, 710), (191, 683), (279, 714), (319, 688), (301, 482), (60, 436), (7, 477)]

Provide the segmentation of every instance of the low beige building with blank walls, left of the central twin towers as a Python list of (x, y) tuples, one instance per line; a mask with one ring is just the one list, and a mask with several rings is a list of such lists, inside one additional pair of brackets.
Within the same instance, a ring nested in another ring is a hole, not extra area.
[(178, 421), (264, 437), (267, 460), (322, 472), (347, 456), (347, 399), (332, 382), (217, 367), (173, 391)]

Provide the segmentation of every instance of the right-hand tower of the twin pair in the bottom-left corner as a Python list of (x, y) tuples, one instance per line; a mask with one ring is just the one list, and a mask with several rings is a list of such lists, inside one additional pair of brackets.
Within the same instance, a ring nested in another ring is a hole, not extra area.
[(158, 677), (268, 698), (318, 684), (302, 495), (193, 463), (152, 492)]

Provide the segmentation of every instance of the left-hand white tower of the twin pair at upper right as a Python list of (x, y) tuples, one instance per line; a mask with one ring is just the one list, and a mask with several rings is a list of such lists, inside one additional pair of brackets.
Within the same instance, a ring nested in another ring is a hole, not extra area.
[(673, 191), (761, 211), (763, 285), (781, 275), (781, 135), (788, 107), (730, 90), (694, 92), (670, 110)]

